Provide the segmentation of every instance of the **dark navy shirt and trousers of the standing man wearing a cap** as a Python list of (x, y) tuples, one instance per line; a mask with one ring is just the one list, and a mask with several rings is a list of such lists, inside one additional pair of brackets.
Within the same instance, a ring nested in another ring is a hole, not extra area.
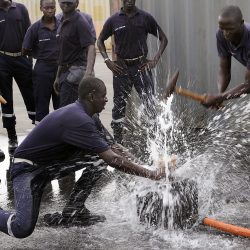
[(69, 19), (60, 19), (57, 30), (59, 44), (58, 64), (60, 107), (78, 98), (78, 85), (87, 67), (88, 47), (95, 44), (90, 26), (80, 12), (75, 11)]

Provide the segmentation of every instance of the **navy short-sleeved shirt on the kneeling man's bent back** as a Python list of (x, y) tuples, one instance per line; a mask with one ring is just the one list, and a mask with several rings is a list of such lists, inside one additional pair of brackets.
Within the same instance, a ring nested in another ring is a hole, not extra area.
[(16, 149), (15, 157), (46, 165), (67, 160), (79, 150), (102, 153), (108, 149), (95, 121), (76, 101), (46, 116)]

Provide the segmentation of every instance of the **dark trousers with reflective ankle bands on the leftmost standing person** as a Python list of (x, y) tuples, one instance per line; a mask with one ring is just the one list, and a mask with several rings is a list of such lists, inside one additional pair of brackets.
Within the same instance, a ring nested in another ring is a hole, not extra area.
[(35, 102), (32, 86), (32, 63), (26, 57), (0, 56), (0, 89), (7, 103), (2, 104), (3, 127), (10, 128), (16, 124), (13, 109), (13, 86), (15, 79), (22, 94), (29, 118), (35, 120)]

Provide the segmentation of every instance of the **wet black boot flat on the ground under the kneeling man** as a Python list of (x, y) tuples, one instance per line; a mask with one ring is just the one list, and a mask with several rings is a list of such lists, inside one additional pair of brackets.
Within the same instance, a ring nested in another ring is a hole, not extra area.
[(104, 215), (92, 214), (84, 208), (82, 212), (75, 210), (71, 215), (62, 215), (58, 212), (45, 214), (44, 221), (48, 226), (91, 226), (106, 220)]

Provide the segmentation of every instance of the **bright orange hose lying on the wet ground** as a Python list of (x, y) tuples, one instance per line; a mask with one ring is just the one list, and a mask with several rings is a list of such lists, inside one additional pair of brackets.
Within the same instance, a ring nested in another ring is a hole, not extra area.
[(250, 238), (250, 229), (245, 228), (245, 227), (234, 226), (234, 225), (227, 224), (227, 223), (217, 221), (214, 219), (210, 219), (207, 217), (203, 220), (203, 224), (206, 226), (214, 227), (216, 229), (219, 229), (227, 233)]

